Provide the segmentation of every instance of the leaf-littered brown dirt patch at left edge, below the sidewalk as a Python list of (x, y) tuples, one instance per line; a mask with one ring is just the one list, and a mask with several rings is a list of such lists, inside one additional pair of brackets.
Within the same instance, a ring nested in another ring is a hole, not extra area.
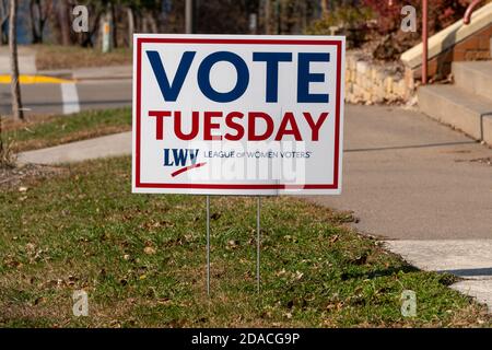
[(0, 190), (19, 189), (22, 184), (36, 179), (48, 178), (66, 173), (63, 167), (55, 167), (42, 164), (26, 164), (13, 168), (0, 167)]

